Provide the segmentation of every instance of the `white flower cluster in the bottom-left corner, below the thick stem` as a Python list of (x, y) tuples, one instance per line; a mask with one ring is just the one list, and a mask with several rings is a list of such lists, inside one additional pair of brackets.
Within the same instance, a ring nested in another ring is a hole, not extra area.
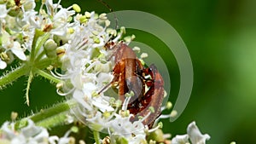
[[(67, 131), (67, 135), (70, 132)], [(59, 138), (56, 135), (49, 136), (48, 131), (36, 126), (31, 119), (27, 125), (19, 131), (15, 130), (15, 123), (5, 122), (1, 127), (0, 143), (4, 144), (70, 144), (72, 141), (67, 135)]]

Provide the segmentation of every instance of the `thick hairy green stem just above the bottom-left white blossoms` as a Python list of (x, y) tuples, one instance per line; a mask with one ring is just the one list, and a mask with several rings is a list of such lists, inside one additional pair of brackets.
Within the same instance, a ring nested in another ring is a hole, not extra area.
[[(43, 126), (45, 128), (53, 128), (56, 125), (64, 124), (67, 122), (67, 114), (70, 112), (70, 109), (76, 107), (77, 103), (73, 100), (64, 101), (49, 109), (41, 110), (40, 112), (28, 117), (38, 126)], [(24, 120), (21, 119), (15, 124), (15, 129), (19, 130), (24, 126)]]

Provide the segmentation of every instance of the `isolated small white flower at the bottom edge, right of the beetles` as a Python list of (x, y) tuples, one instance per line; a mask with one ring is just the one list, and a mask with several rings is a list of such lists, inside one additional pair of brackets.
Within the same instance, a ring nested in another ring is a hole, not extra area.
[(187, 133), (192, 144), (205, 144), (211, 138), (210, 135), (202, 135), (195, 122), (189, 124)]

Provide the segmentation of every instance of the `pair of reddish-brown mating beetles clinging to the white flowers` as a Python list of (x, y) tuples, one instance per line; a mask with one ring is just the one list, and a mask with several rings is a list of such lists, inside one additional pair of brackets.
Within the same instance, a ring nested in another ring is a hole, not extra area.
[[(160, 72), (154, 64), (144, 67), (135, 52), (123, 42), (110, 42), (105, 47), (113, 50), (111, 58), (113, 57), (115, 65), (111, 84), (118, 84), (119, 99), (124, 102), (125, 94), (132, 91), (134, 95), (129, 101), (127, 110), (135, 116), (138, 114), (146, 117), (143, 124), (152, 127), (154, 120), (160, 116), (165, 93), (164, 80)], [(145, 91), (146, 86), (147, 91)], [(154, 107), (154, 112), (150, 112), (149, 107)], [(133, 120), (134, 118), (131, 119)]]

